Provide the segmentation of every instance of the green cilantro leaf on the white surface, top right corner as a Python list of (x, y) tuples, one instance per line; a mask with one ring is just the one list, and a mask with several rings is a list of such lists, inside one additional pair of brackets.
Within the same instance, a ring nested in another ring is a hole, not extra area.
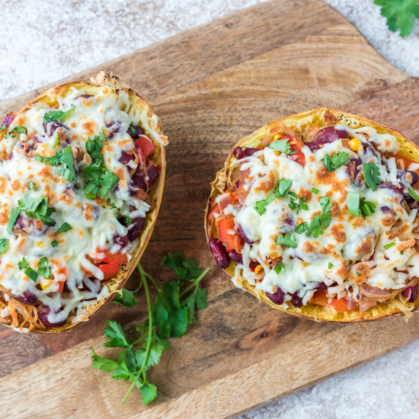
[(402, 38), (413, 30), (414, 18), (419, 18), (418, 0), (374, 0), (374, 4), (381, 6), (388, 28), (392, 32), (400, 30)]

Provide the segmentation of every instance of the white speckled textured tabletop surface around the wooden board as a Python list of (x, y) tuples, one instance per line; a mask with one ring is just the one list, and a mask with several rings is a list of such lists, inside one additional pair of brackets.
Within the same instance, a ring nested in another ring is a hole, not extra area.
[[(259, 2), (0, 0), (0, 100), (256, 3)], [(419, 76), (417, 23), (415, 34), (401, 39), (387, 30), (385, 19), (372, 0), (326, 3), (347, 16), (393, 65)], [(419, 413), (417, 370), (419, 341), (242, 418), (412, 418)], [(251, 389), (244, 385), (243, 391)]]

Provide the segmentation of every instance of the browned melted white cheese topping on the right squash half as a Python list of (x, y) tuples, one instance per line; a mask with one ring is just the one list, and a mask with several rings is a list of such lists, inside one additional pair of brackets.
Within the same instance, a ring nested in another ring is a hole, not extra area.
[[(373, 128), (349, 129), (338, 125), (336, 129), (351, 132), (362, 143), (369, 141), (380, 152), (396, 153), (400, 149), (396, 137), (378, 134)], [(417, 276), (419, 256), (411, 240), (412, 230), (417, 227), (417, 209), (408, 212), (399, 202), (400, 194), (388, 186), (373, 192), (363, 178), (359, 183), (351, 182), (347, 165), (329, 172), (321, 161), (326, 154), (345, 151), (349, 159), (375, 163), (380, 169), (381, 183), (391, 182), (407, 191), (410, 184), (398, 180), (395, 159), (386, 160), (377, 152), (367, 154), (362, 147), (355, 153), (345, 147), (342, 140), (326, 143), (314, 152), (307, 146), (301, 151), (305, 166), (269, 147), (238, 160), (242, 172), (250, 171), (244, 185), (248, 195), (244, 204), (235, 209), (236, 214), (230, 213), (235, 216), (236, 228), (241, 226), (254, 243), (244, 245), (243, 264), (236, 266), (233, 283), (241, 287), (242, 281), (247, 280), (256, 290), (271, 294), (279, 287), (285, 292), (285, 301), (291, 300), (290, 294), (297, 292), (306, 304), (322, 282), (328, 286), (328, 297), (352, 297), (358, 301), (362, 284), (397, 290)], [(361, 171), (362, 163), (358, 166)], [(271, 197), (282, 178), (292, 180), (288, 190), (297, 197), (306, 197), (304, 203), (308, 209), (297, 214), (289, 207), (290, 195), (284, 194), (267, 204), (266, 211), (259, 215), (254, 209), (256, 202)], [(313, 192), (313, 188), (318, 193)], [(365, 219), (352, 217), (347, 209), (348, 192), (359, 193), (366, 201), (373, 202), (375, 212)], [(313, 216), (322, 213), (320, 197), (331, 198), (330, 224), (317, 238), (305, 232), (296, 233), (297, 225), (302, 222), (310, 225)], [(222, 196), (217, 200), (221, 202)], [(295, 237), (295, 248), (276, 244), (275, 239), (286, 233)], [(394, 245), (386, 246), (393, 242)], [(372, 255), (374, 258), (370, 261)], [(259, 275), (250, 269), (251, 259), (261, 264), (263, 271)], [(279, 261), (284, 268), (277, 273), (272, 267)]]

